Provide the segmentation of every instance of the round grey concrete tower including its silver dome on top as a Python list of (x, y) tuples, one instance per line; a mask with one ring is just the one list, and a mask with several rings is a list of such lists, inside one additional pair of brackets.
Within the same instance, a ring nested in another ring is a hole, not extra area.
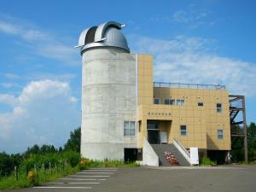
[(79, 38), (82, 67), (81, 154), (96, 160), (124, 158), (136, 137), (124, 122), (136, 121), (137, 57), (130, 54), (119, 23), (85, 29)]

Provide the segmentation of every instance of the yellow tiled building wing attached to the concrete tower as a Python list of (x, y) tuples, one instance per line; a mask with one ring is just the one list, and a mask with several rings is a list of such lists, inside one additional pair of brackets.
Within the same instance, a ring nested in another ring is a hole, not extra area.
[(138, 55), (138, 148), (172, 143), (199, 152), (231, 149), (229, 92), (222, 85), (173, 84), (153, 81), (152, 55)]

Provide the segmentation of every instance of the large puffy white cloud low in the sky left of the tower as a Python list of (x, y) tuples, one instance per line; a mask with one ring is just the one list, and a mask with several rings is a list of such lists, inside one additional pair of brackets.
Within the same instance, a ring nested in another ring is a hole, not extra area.
[(80, 124), (78, 99), (66, 82), (34, 81), (20, 96), (0, 95), (0, 102), (13, 106), (11, 113), (0, 113), (0, 151), (22, 152), (35, 143), (60, 146)]

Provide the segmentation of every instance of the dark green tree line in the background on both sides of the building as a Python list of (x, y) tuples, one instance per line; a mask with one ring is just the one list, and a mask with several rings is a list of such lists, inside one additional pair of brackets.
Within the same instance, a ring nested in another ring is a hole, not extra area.
[[(38, 144), (28, 147), (22, 154), (7, 154), (5, 152), (0, 153), (0, 176), (8, 176), (13, 172), (14, 166), (20, 166), (20, 164), (26, 162), (42, 161), (46, 157), (48, 160), (56, 161), (59, 157), (71, 156), (68, 151), (79, 154), (80, 153), (80, 141), (81, 141), (81, 128), (77, 128), (70, 132), (70, 137), (67, 143), (60, 148), (55, 148), (54, 145), (42, 145)], [(232, 137), (231, 140), (232, 150), (232, 162), (241, 162), (244, 160), (244, 140), (243, 137)], [(247, 125), (247, 146), (248, 146), (248, 160), (250, 162), (256, 162), (256, 125), (251, 123)], [(46, 159), (47, 159), (46, 158)], [(40, 160), (41, 159), (41, 160)], [(71, 161), (72, 158), (71, 158)]]

